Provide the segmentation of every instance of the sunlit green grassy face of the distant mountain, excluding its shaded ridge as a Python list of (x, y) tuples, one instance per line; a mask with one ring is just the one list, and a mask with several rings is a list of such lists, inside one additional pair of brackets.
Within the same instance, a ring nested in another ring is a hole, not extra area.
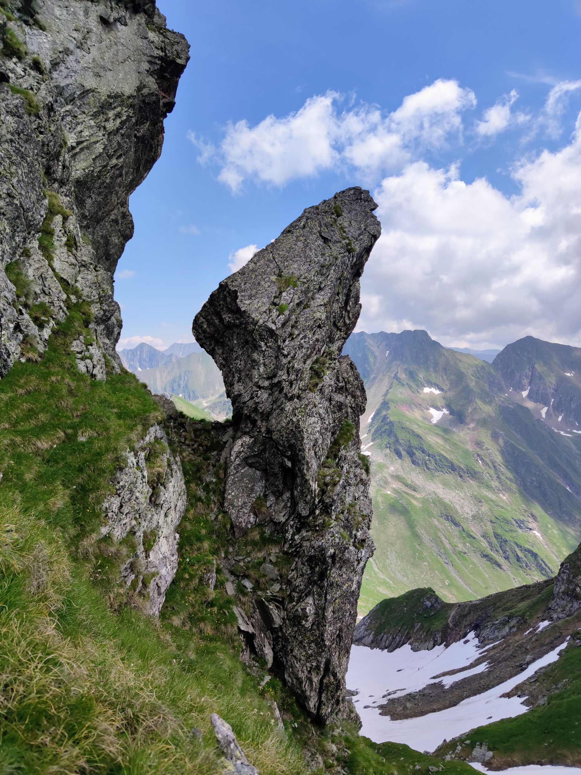
[[(443, 599), (460, 601), (527, 584), (555, 574), (579, 542), (576, 528), (529, 498), (507, 469), (494, 433), (516, 436), (500, 421), (498, 397), (482, 379), (488, 364), (444, 352), (446, 360), (461, 365), (470, 391), (438, 363), (400, 367), (396, 379), (393, 371), (380, 373), (367, 384), (368, 408), (377, 407), (363, 440), (374, 441), (369, 451), (377, 549), (363, 580), (361, 614), (414, 587), (431, 586)], [(442, 393), (424, 394), (424, 386)], [(432, 425), (430, 407), (451, 408), (456, 417), (445, 415)], [(456, 421), (462, 415), (468, 422)], [(555, 434), (555, 443), (562, 442), (569, 444)], [(410, 449), (419, 465), (412, 463)]]

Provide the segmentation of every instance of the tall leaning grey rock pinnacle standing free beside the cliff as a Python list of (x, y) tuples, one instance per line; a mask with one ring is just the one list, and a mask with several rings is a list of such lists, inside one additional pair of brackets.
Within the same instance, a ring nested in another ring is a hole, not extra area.
[[(194, 336), (232, 401), (225, 508), (235, 536), (282, 534), (246, 629), (253, 648), (321, 721), (346, 712), (345, 673), (373, 553), (359, 415), (366, 404), (342, 347), (359, 318), (359, 277), (380, 223), (368, 191), (306, 209), (220, 283)], [(251, 632), (252, 631), (252, 632)]]

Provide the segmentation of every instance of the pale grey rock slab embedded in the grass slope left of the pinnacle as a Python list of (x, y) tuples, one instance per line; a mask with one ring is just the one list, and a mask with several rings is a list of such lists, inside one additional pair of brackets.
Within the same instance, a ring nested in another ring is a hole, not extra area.
[(141, 607), (157, 616), (176, 574), (176, 528), (187, 505), (180, 461), (159, 425), (150, 428), (134, 452), (128, 451), (113, 484), (115, 495), (103, 504), (101, 536), (132, 541), (122, 579)]

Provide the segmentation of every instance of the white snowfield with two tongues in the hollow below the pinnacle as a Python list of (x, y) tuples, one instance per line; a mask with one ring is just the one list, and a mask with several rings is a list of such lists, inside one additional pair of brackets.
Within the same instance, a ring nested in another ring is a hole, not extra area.
[[(355, 700), (359, 701), (356, 709), (363, 722), (361, 734), (373, 742), (389, 740), (405, 743), (417, 751), (433, 751), (445, 738), (464, 735), (470, 729), (499, 721), (500, 718), (526, 713), (529, 708), (522, 704), (524, 698), (504, 698), (501, 695), (530, 678), (539, 668), (556, 662), (568, 640), (529, 665), (522, 673), (483, 694), (463, 700), (444, 711), (428, 713), (418, 718), (404, 718), (401, 721), (392, 721), (389, 716), (380, 716), (377, 708), (364, 708), (363, 705), (371, 704), (373, 697), (378, 694), (394, 691), (390, 696), (401, 696), (433, 683), (432, 677), (438, 673), (468, 667), (469, 663), (483, 653), (483, 649), (476, 650), (476, 638), (473, 633), (467, 643), (452, 643), (448, 649), (445, 646), (436, 646), (431, 651), (413, 652), (411, 647), (406, 645), (388, 653), (379, 649), (368, 649), (366, 646), (352, 646), (347, 685), (359, 692)], [(483, 667), (478, 666), (442, 681), (449, 687), (454, 681), (481, 670)]]

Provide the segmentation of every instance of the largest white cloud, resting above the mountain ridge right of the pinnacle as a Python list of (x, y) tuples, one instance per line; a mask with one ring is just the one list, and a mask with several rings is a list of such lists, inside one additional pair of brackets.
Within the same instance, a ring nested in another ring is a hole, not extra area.
[(526, 333), (579, 344), (580, 127), (562, 150), (514, 167), (513, 197), (425, 162), (385, 178), (359, 330), (423, 328), (460, 346)]

